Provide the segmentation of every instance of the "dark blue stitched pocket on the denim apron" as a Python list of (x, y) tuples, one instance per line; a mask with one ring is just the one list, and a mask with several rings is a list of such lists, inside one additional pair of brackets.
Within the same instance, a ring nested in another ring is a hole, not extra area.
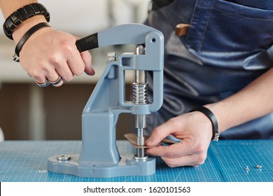
[(197, 52), (265, 50), (273, 43), (273, 10), (197, 0), (186, 41)]

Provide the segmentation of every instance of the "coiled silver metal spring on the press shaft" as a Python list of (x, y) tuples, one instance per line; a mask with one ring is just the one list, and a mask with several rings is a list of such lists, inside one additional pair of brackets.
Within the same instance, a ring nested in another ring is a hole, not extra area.
[(148, 83), (133, 83), (134, 104), (148, 103)]

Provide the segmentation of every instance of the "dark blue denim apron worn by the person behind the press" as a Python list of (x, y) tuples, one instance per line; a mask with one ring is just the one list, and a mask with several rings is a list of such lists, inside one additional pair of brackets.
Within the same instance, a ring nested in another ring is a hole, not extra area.
[[(190, 25), (188, 33), (176, 36), (181, 23)], [(176, 0), (151, 10), (146, 25), (165, 35), (164, 103), (147, 116), (146, 134), (196, 106), (225, 99), (273, 66), (272, 0)], [(152, 78), (148, 73), (150, 94)], [(269, 138), (272, 114), (221, 134), (221, 139)]]

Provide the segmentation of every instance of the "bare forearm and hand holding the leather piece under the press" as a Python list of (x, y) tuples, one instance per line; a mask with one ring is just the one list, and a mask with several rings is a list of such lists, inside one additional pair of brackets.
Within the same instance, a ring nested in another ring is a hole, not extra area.
[[(273, 112), (273, 68), (227, 99), (205, 107), (218, 120), (218, 132)], [(146, 153), (162, 157), (169, 167), (202, 165), (212, 137), (212, 125), (199, 111), (185, 113), (155, 127), (147, 146), (155, 146), (168, 135), (182, 139), (171, 146), (148, 148)]]

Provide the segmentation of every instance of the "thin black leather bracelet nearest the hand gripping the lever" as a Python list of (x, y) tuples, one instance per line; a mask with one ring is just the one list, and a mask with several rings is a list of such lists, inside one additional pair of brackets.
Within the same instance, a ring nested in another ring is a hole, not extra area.
[(20, 61), (20, 51), (22, 49), (22, 46), (26, 43), (26, 41), (29, 39), (29, 37), (34, 34), (36, 31), (38, 31), (38, 29), (41, 29), (43, 27), (50, 27), (50, 25), (48, 25), (47, 22), (41, 22), (38, 23), (37, 25), (35, 25), (34, 27), (31, 27), (25, 34), (24, 36), (22, 36), (22, 38), (20, 38), (20, 41), (17, 43), (16, 47), (15, 47), (15, 53), (13, 54), (13, 60), (15, 62), (19, 62)]

